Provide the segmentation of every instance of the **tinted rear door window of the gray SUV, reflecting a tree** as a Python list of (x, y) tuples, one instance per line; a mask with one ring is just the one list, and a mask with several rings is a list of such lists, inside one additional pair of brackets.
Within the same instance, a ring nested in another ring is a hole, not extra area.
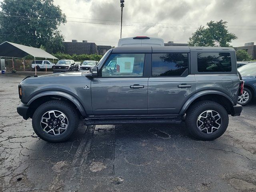
[(187, 69), (187, 53), (152, 54), (152, 76), (181, 76)]

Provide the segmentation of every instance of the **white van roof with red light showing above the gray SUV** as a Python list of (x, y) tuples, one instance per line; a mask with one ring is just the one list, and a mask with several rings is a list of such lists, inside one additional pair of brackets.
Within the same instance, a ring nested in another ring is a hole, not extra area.
[(164, 46), (164, 40), (147, 36), (136, 36), (119, 39), (118, 47), (124, 46)]

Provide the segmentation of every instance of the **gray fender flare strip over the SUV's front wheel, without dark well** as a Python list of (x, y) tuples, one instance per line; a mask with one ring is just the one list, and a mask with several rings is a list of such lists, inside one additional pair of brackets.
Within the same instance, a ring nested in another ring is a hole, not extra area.
[(65, 93), (65, 92), (61, 92), (61, 91), (44, 91), (41, 93), (36, 94), (35, 96), (33, 96), (27, 103), (27, 105), (29, 106), (34, 100), (36, 100), (37, 98), (40, 98), (42, 96), (48, 96), (48, 95), (53, 95), (53, 96), (62, 96), (68, 100), (70, 100), (73, 104), (76, 105), (76, 107), (78, 108), (78, 110), (80, 111), (80, 113), (82, 114), (82, 116), (86, 116), (86, 112), (84, 110), (84, 107), (82, 106), (82, 104), (76, 99), (74, 98), (72, 95)]

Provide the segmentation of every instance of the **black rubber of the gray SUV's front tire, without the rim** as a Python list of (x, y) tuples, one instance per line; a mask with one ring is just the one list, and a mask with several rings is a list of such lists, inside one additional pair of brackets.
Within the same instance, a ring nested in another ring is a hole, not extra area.
[[(59, 136), (50, 135), (50, 134), (44, 132), (41, 127), (42, 116), (50, 110), (58, 110), (58, 111), (62, 112), (68, 119), (67, 130), (63, 134), (60, 134)], [(71, 114), (73, 114), (73, 113), (70, 109), (65, 108), (64, 106), (59, 105), (59, 104), (47, 104), (47, 105), (41, 106), (35, 111), (35, 113), (33, 115), (33, 118), (32, 118), (33, 129), (38, 136), (42, 137), (46, 141), (49, 141), (49, 142), (65, 141), (74, 132), (74, 129), (76, 127), (75, 118)]]

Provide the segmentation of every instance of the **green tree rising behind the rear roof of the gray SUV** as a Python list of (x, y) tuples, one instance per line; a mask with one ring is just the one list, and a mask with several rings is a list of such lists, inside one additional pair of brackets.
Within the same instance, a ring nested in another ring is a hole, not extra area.
[(208, 28), (200, 26), (196, 32), (192, 33), (188, 45), (228, 47), (232, 40), (237, 39), (237, 36), (228, 32), (227, 23), (223, 20), (218, 22), (210, 21), (207, 23)]

